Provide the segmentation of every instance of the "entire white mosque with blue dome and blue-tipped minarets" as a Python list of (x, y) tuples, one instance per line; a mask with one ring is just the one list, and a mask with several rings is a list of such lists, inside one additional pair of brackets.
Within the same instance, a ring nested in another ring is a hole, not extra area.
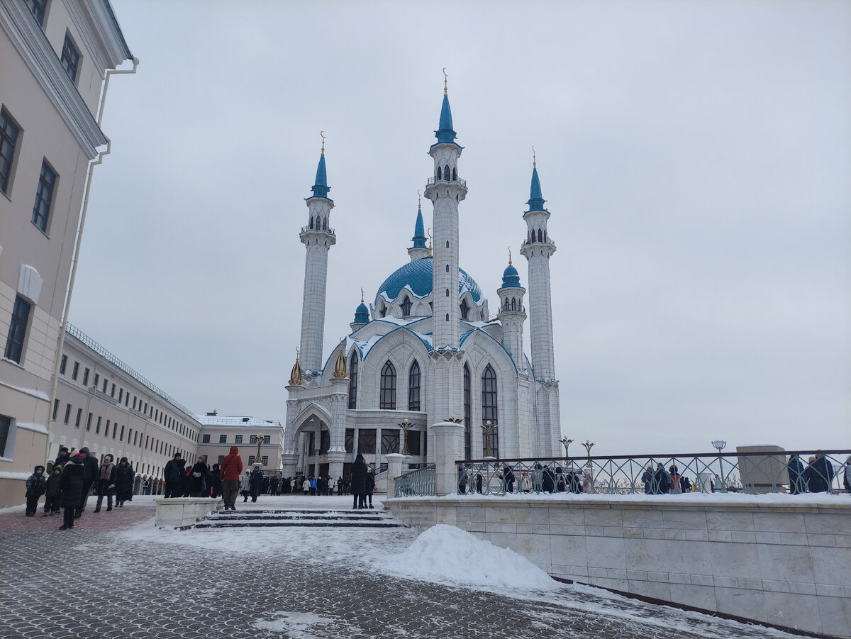
[(450, 417), (464, 425), (459, 459), (482, 459), (488, 444), (501, 459), (560, 452), (550, 286), (556, 245), (547, 232), (550, 213), (538, 170), (533, 164), (520, 249), (528, 260), (532, 348), (524, 353), (527, 290), (511, 257), (496, 291), (495, 316), (458, 264), (458, 211), (467, 187), (445, 85), (436, 136), (429, 150), (434, 173), (425, 189), (433, 206), (433, 251), (426, 247), (420, 208), (408, 263), (381, 283), (369, 307), (362, 296), (351, 333), (324, 360), (328, 249), (336, 237), (323, 145), (300, 233), (307, 252), (304, 301), (300, 357), (287, 386), (284, 476), (345, 476), (357, 453), (376, 469), (390, 453), (408, 454), (410, 465), (426, 464), (433, 460), (428, 426)]

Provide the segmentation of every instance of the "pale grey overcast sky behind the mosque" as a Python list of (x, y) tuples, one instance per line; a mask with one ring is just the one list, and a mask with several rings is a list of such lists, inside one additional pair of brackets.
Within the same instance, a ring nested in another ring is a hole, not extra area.
[(187, 407), (285, 419), (320, 130), (324, 357), (408, 262), (446, 67), (494, 312), (537, 151), (565, 435), (851, 446), (851, 3), (112, 3), (71, 322)]

